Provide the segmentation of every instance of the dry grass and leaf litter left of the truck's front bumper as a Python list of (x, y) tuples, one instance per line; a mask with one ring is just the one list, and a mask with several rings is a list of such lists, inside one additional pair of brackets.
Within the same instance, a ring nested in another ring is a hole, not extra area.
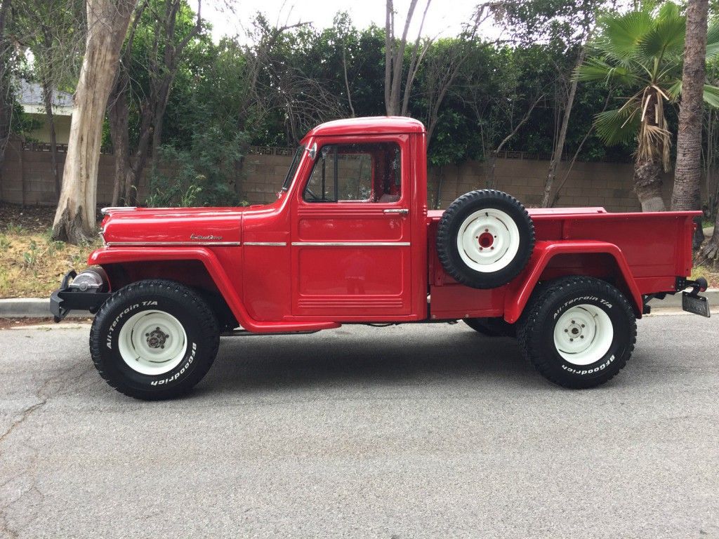
[(0, 206), (0, 298), (46, 298), (73, 268), (83, 268), (101, 245), (50, 239), (52, 208)]

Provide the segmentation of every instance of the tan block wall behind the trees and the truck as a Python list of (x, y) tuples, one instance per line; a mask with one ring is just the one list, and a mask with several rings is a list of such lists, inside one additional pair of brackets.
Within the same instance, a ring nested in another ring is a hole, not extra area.
[[(253, 148), (240, 171), (237, 190), (249, 203), (267, 203), (275, 200), (292, 160), (293, 150), (287, 148)], [(523, 159), (521, 154), (509, 154), (496, 161), (495, 188), (516, 196), (526, 206), (539, 206), (549, 162)], [(65, 155), (60, 153), (62, 175)], [(564, 178), (567, 163), (562, 162), (557, 181)], [(0, 169), (0, 201), (27, 205), (55, 204), (55, 187), (52, 180), (50, 153), (22, 149), (17, 141), (9, 143)], [(98, 178), (98, 204), (111, 201), (114, 178), (114, 160), (111, 155), (100, 156)], [(437, 185), (441, 180), (439, 207), (446, 208), (457, 196), (472, 189), (486, 188), (487, 163), (467, 161), (429, 170), (428, 198), (431, 207), (437, 198)], [(665, 199), (669, 200), (672, 183), (664, 181)], [(139, 199), (147, 194), (147, 179), (139, 185)], [(632, 165), (629, 163), (577, 162), (569, 174), (557, 206), (604, 206), (610, 211), (639, 209), (632, 191)]]

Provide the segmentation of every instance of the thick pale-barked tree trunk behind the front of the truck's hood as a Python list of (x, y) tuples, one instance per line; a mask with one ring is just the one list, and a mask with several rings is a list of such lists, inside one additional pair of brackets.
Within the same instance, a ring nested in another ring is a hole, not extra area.
[(75, 91), (63, 188), (52, 239), (79, 243), (97, 228), (97, 172), (105, 108), (137, 0), (87, 0), (87, 38)]

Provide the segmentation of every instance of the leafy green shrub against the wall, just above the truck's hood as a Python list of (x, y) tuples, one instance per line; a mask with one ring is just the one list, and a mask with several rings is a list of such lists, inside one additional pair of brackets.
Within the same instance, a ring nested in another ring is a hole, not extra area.
[(188, 149), (161, 147), (147, 206), (237, 206), (234, 185), (243, 143), (241, 136), (226, 140), (214, 127), (193, 134)]

